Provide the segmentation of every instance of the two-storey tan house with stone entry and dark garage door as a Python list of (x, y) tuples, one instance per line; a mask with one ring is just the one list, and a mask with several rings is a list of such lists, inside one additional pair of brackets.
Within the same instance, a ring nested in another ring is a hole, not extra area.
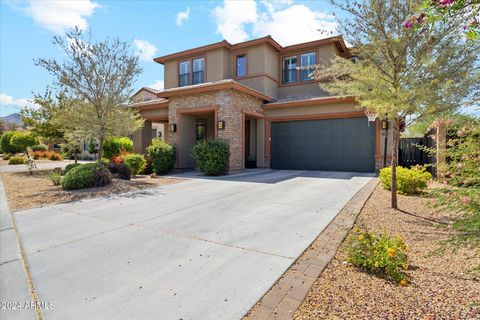
[(353, 97), (322, 91), (308, 69), (337, 55), (349, 57), (341, 37), (282, 47), (267, 36), (155, 58), (165, 89), (133, 96), (145, 119), (135, 151), (145, 152), (152, 124), (163, 124), (177, 168), (194, 168), (192, 147), (213, 138), (230, 144), (230, 171), (254, 158), (275, 169), (374, 172), (384, 156), (379, 120), (369, 123)]

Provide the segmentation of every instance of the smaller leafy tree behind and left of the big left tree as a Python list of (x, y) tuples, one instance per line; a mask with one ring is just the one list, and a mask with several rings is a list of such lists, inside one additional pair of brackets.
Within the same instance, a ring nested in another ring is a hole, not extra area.
[(53, 98), (52, 91), (47, 88), (43, 95), (35, 94), (33, 102), (40, 107), (25, 107), (20, 111), (24, 125), (48, 144), (64, 142), (65, 124), (56, 119), (72, 100), (64, 93)]

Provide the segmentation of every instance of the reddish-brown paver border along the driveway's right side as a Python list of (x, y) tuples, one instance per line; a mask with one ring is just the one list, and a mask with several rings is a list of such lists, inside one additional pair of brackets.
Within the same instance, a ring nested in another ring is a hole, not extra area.
[(378, 183), (378, 178), (372, 179), (347, 202), (320, 235), (250, 309), (244, 320), (291, 319), (310, 288), (335, 256)]

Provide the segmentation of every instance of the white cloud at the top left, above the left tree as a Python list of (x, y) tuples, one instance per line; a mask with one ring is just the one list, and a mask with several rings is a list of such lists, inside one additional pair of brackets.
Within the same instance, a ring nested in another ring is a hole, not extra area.
[(23, 11), (45, 29), (63, 33), (75, 26), (86, 29), (88, 23), (85, 17), (92, 15), (98, 7), (100, 5), (91, 0), (30, 0)]

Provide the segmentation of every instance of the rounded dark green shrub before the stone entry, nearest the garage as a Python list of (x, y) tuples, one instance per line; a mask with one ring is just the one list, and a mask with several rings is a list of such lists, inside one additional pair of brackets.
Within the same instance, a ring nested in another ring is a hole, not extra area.
[(230, 160), (228, 143), (219, 140), (203, 140), (192, 150), (197, 167), (207, 176), (225, 174)]

